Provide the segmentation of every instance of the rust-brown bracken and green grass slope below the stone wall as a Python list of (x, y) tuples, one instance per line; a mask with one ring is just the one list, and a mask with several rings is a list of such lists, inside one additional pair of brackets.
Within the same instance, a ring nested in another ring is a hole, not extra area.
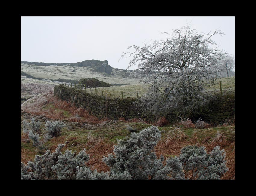
[[(69, 103), (57, 100), (52, 96), (52, 92), (45, 93), (43, 96), (37, 96), (28, 100), (22, 106), (21, 116), (21, 159), (24, 164), (32, 161), (35, 155), (43, 154), (46, 150), (55, 152), (58, 144), (66, 143), (61, 150), (72, 150), (72, 152), (86, 149), (90, 155), (88, 167), (97, 169), (97, 171), (109, 171), (109, 167), (101, 160), (103, 156), (113, 152), (114, 145), (118, 140), (130, 136), (127, 125), (136, 128), (138, 132), (151, 124), (141, 119), (131, 119), (124, 121), (98, 120), (82, 108), (76, 108)], [(23, 132), (24, 121), (31, 122), (35, 118), (40, 121), (39, 137), (43, 141), (46, 131), (47, 121), (62, 121), (65, 126), (61, 130), (61, 135), (54, 137), (42, 146), (36, 147), (29, 139), (28, 134)], [(161, 130), (161, 140), (158, 142), (155, 152), (158, 157), (164, 156), (164, 159), (179, 156), (180, 150), (187, 145), (204, 145), (210, 152), (216, 145), (226, 152), (226, 164), (229, 171), (222, 179), (235, 179), (235, 126), (234, 124), (220, 124), (217, 127), (209, 125), (205, 128), (195, 128), (191, 124), (167, 124), (162, 127), (156, 122)], [(186, 125), (186, 126), (185, 126)], [(189, 126), (188, 126), (189, 125)], [(118, 139), (118, 140), (117, 140)]]

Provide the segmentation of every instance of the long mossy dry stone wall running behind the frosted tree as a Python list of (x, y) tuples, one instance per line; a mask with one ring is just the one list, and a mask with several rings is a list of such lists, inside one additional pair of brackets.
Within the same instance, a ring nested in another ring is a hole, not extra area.
[[(74, 103), (77, 107), (83, 107), (90, 111), (98, 118), (110, 118), (118, 120), (120, 117), (126, 120), (131, 118), (142, 118), (146, 121), (155, 121), (155, 117), (151, 114), (142, 114), (136, 107), (136, 98), (106, 98), (91, 93), (86, 93), (80, 89), (74, 89), (65, 85), (56, 85), (54, 87), (54, 95), (61, 100)], [(174, 122), (177, 118), (172, 114), (163, 115), (169, 122)], [(209, 104), (208, 110), (204, 111), (201, 119), (220, 123), (224, 121), (233, 121), (235, 116), (235, 96), (228, 94), (218, 96)], [(196, 117), (195, 119), (198, 119)]]

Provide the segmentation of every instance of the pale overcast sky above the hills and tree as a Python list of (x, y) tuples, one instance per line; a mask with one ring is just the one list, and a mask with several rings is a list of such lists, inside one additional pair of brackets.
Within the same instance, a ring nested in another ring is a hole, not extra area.
[[(212, 37), (220, 49), (235, 55), (235, 17), (21, 17), (21, 60), (76, 63), (108, 60), (126, 69), (120, 59), (130, 45), (166, 39), (172, 29), (191, 24), (201, 32), (221, 30)], [(132, 67), (131, 69), (136, 69)]]

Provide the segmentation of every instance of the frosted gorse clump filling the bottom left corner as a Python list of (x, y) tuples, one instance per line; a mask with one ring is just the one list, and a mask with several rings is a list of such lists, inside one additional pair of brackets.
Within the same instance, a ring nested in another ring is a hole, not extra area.
[(26, 166), (21, 163), (21, 179), (110, 179), (108, 172), (98, 173), (85, 166), (89, 161), (85, 149), (78, 154), (70, 150), (62, 154), (63, 147), (64, 144), (59, 144), (53, 153), (47, 150), (36, 155)]

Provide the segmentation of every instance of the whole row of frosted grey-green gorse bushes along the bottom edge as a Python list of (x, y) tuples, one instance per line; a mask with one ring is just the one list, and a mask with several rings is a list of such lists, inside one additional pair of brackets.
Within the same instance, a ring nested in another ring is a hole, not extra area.
[(131, 133), (114, 147), (114, 154), (102, 159), (110, 171), (101, 173), (86, 167), (85, 149), (62, 154), (64, 144), (59, 144), (54, 153), (48, 150), (26, 166), (21, 163), (21, 179), (220, 179), (228, 170), (225, 152), (218, 146), (210, 154), (204, 146), (186, 146), (179, 157), (164, 162), (154, 152), (160, 138), (155, 126)]

